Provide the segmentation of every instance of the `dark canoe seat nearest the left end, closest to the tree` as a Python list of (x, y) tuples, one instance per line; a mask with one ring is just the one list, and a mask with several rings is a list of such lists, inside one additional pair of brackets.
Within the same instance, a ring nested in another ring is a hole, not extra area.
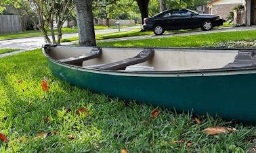
[(79, 57), (68, 57), (66, 59), (59, 59), (58, 61), (66, 64), (76, 64), (88, 59), (94, 59), (99, 57), (102, 54), (102, 48), (91, 49), (91, 51), (87, 54), (82, 54)]

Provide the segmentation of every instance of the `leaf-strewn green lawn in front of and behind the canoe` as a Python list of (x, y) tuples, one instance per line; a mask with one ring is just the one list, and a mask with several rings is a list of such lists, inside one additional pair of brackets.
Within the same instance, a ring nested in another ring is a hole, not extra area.
[[(238, 33), (234, 37), (249, 40), (255, 36), (251, 33)], [(186, 40), (179, 46), (188, 47), (194, 45), (190, 43), (192, 40), (199, 46), (218, 42), (222, 37), (226, 41), (227, 34), (219, 34), (198, 39), (189, 36), (177, 40), (171, 37), (108, 42), (108, 46), (121, 43), (137, 46), (137, 42), (144, 46), (157, 40), (161, 43), (156, 46), (169, 42), (170, 47), (173, 42)], [(104, 43), (107, 42), (99, 44)], [(4, 67), (0, 69), (0, 152), (247, 152), (255, 149), (255, 126), (210, 115), (177, 113), (175, 109), (111, 98), (72, 86), (51, 74), (40, 49), (0, 58), (0, 67)], [(48, 91), (41, 87), (43, 80), (47, 80)], [(204, 131), (208, 127), (232, 130), (209, 135)]]

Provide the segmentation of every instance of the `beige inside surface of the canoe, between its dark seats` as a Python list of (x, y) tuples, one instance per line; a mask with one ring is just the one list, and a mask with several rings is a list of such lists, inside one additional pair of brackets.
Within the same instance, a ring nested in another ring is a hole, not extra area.
[[(51, 47), (49, 56), (54, 59), (78, 57), (89, 53), (91, 47)], [(83, 67), (104, 65), (135, 57), (143, 49), (141, 48), (102, 48), (102, 55), (97, 58), (83, 61)], [(154, 49), (153, 57), (148, 61), (133, 67), (150, 67), (154, 71), (175, 71), (191, 69), (217, 69), (222, 68), (234, 61), (238, 50), (215, 50), (215, 49)]]

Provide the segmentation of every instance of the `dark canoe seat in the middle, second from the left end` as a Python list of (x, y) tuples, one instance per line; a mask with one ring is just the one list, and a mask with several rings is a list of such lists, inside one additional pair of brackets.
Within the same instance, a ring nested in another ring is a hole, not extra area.
[(135, 57), (123, 59), (121, 61), (116, 61), (113, 63), (108, 63), (100, 66), (95, 66), (95, 69), (106, 69), (106, 70), (116, 70), (116, 69), (125, 69), (129, 65), (135, 65), (138, 63), (143, 63), (150, 59), (154, 55), (154, 49), (144, 49)]

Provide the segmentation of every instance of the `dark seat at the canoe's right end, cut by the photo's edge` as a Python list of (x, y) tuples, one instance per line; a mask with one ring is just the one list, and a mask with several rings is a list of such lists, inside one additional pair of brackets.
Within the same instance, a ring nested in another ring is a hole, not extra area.
[(252, 66), (256, 66), (256, 51), (238, 51), (234, 62), (228, 63), (223, 68)]

